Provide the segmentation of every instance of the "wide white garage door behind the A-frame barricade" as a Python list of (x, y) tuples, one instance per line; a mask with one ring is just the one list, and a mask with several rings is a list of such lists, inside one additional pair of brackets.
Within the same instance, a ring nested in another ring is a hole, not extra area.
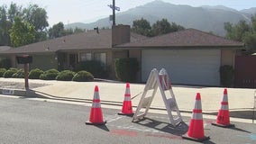
[(147, 49), (142, 50), (142, 81), (152, 68), (164, 67), (173, 84), (219, 85), (219, 49)]

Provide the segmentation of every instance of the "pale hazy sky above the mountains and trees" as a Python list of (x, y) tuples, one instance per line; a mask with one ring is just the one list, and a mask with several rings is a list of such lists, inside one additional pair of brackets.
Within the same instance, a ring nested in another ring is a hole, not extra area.
[[(154, 0), (115, 0), (115, 5), (119, 6), (124, 12), (130, 8), (150, 3)], [(256, 7), (256, 0), (162, 0), (171, 4), (187, 4), (191, 6), (201, 5), (224, 5), (236, 10), (248, 9)], [(112, 4), (113, 0), (0, 0), (0, 5), (3, 4), (23, 5), (39, 4), (45, 8), (48, 15), (50, 25), (62, 22), (77, 23), (77, 22), (93, 22), (99, 18), (106, 17), (112, 14), (112, 10), (107, 6)], [(117, 12), (117, 13), (120, 13)]]

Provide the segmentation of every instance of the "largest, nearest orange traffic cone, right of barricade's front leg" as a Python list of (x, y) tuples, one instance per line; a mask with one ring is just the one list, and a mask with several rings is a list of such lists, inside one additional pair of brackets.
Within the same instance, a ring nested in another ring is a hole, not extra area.
[(182, 138), (200, 142), (206, 139), (210, 139), (209, 137), (205, 136), (204, 132), (201, 96), (199, 93), (197, 93), (195, 109), (193, 109), (192, 118), (189, 123), (187, 134), (183, 135)]

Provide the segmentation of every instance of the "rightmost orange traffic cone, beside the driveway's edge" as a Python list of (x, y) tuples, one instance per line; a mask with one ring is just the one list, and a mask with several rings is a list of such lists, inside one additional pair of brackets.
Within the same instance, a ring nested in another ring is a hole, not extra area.
[(218, 112), (217, 119), (215, 123), (212, 123), (215, 126), (220, 126), (224, 128), (230, 128), (234, 125), (230, 123), (229, 118), (229, 108), (228, 108), (228, 98), (227, 98), (227, 89), (224, 89), (223, 102), (221, 103), (221, 109)]

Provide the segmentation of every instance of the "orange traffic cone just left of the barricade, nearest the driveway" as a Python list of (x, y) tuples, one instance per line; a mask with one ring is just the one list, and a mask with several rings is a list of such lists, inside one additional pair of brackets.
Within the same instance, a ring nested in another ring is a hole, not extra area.
[(122, 112), (119, 112), (118, 114), (133, 115), (133, 105), (132, 105), (132, 101), (131, 101), (130, 84), (129, 83), (126, 83)]

